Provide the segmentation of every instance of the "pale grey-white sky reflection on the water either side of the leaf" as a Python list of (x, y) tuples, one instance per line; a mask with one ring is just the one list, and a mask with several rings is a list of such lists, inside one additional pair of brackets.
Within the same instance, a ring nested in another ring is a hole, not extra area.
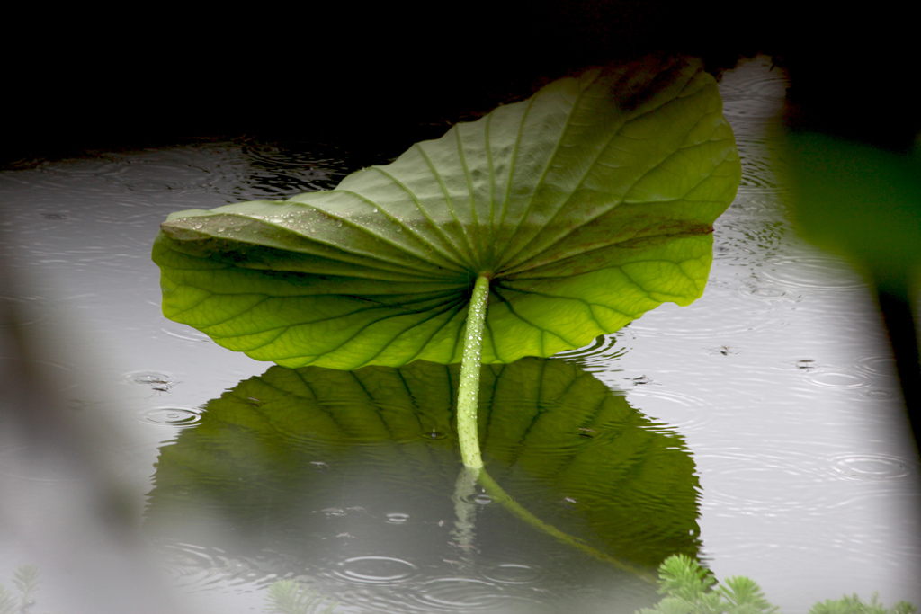
[[(623, 356), (585, 363), (686, 437), (717, 577), (750, 575), (787, 612), (874, 590), (887, 604), (921, 604), (919, 470), (884, 332), (859, 276), (806, 246), (781, 212), (767, 130), (785, 85), (769, 65), (756, 59), (721, 84), (745, 179), (717, 222), (705, 296), (647, 314), (615, 333)], [(157, 225), (178, 209), (325, 187), (344, 170), (320, 156), (277, 180), (251, 154), (207, 144), (0, 173), (0, 222), (17, 243), (0, 249), (25, 288), (0, 295), (26, 309), (24, 328), (41, 334), (41, 360), (67, 382), (62, 397), (78, 419), (122, 434), (104, 456), (137, 514), (158, 446), (176, 432), (163, 424), (170, 408), (193, 414), (268, 366), (162, 318), (149, 258)], [(6, 502), (41, 481), (5, 475)], [(8, 584), (29, 546), (8, 534), (0, 546)], [(195, 599), (195, 611), (209, 599), (215, 611), (262, 603), (230, 588)]]

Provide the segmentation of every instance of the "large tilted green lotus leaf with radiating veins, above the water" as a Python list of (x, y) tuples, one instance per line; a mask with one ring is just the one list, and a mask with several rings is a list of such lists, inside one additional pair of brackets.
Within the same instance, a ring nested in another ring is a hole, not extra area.
[(589, 70), (413, 145), (332, 191), (171, 214), (163, 310), (279, 365), (548, 356), (699, 297), (740, 162), (695, 61)]

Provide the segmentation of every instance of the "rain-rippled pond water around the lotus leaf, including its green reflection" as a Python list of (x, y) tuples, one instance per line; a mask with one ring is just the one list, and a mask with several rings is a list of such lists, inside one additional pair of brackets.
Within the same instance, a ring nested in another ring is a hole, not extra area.
[[(875, 590), (921, 604), (921, 471), (880, 317), (781, 208), (769, 151), (783, 75), (757, 58), (720, 88), (743, 179), (704, 297), (495, 373), (496, 390), (538, 392), (492, 400), (493, 477), (620, 564), (465, 481), (445, 369), (294, 374), (163, 319), (149, 251), (167, 214), (332, 188), (355, 169), (347, 151), (241, 139), (0, 173), (0, 250), (19, 283), (0, 298), (27, 314), (17, 330), (42, 377), (99, 438), (143, 531), (128, 556), (157, 571), (126, 573), (190, 612), (262, 611), (280, 578), (341, 612), (633, 612), (657, 600), (644, 565), (684, 551), (786, 612)], [(565, 383), (553, 399), (548, 382)], [(420, 387), (448, 400), (421, 411)], [(602, 409), (582, 415), (589, 398)], [(503, 412), (546, 433), (504, 438), (521, 427)], [(80, 524), (92, 515), (72, 468), (33, 449), (6, 436), (0, 450), (0, 583), (34, 562), (42, 611), (88, 611), (119, 587), (86, 574), (122, 567), (122, 546)]]

